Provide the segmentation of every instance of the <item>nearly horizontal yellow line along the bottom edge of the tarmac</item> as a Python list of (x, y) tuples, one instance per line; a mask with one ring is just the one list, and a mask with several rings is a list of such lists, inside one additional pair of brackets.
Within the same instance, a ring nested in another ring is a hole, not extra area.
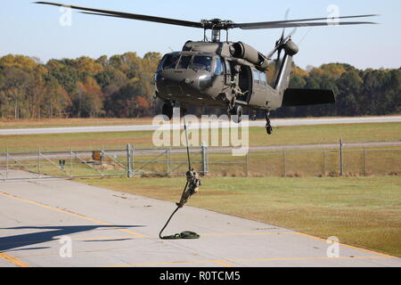
[[(259, 259), (225, 259), (225, 260), (201, 260), (201, 261), (178, 261), (178, 262), (162, 262), (154, 264), (136, 264), (136, 265), (112, 265), (105, 267), (144, 267), (144, 266), (162, 266), (162, 265), (191, 265), (191, 264), (209, 264), (215, 263), (227, 266), (228, 262), (257, 262), (257, 261), (296, 261), (296, 260), (341, 260), (341, 259), (386, 259), (397, 258), (387, 256), (355, 256), (355, 257), (289, 257), (289, 258), (259, 258)], [(234, 267), (233, 265), (229, 265)]]

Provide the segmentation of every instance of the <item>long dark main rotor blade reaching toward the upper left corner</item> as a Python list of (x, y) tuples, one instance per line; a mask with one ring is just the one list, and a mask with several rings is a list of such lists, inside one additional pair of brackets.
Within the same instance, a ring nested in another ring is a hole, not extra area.
[(58, 3), (52, 3), (52, 2), (39, 1), (39, 2), (35, 2), (35, 3), (36, 4), (53, 5), (53, 6), (58, 6), (58, 7), (69, 7), (71, 9), (85, 11), (86, 13), (92, 12), (92, 14), (99, 15), (99, 16), (109, 16), (109, 17), (124, 18), (124, 19), (131, 19), (131, 20), (145, 20), (145, 21), (151, 21), (151, 22), (169, 24), (169, 25), (176, 25), (176, 26), (203, 28), (202, 23), (196, 22), (196, 21), (160, 18), (160, 17), (147, 16), (147, 15), (141, 15), (141, 14), (93, 9), (93, 8), (86, 8), (86, 7), (67, 5), (67, 4), (58, 4)]

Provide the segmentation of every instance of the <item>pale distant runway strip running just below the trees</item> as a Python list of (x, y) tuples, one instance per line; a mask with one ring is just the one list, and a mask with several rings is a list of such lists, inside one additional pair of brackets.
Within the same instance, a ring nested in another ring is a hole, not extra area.
[[(401, 117), (372, 117), (372, 118), (296, 118), (273, 119), (273, 126), (315, 126), (338, 124), (368, 124), (401, 122)], [(250, 127), (265, 127), (266, 121), (249, 122)], [(192, 125), (193, 129), (203, 128), (206, 125)], [(209, 124), (208, 124), (209, 126)], [(228, 124), (223, 125), (227, 127)], [(173, 128), (182, 126), (175, 125)], [(0, 135), (18, 134), (78, 134), (78, 133), (113, 133), (113, 132), (144, 132), (155, 131), (160, 126), (83, 126), (83, 127), (55, 127), (55, 128), (28, 128), (28, 129), (0, 129)]]

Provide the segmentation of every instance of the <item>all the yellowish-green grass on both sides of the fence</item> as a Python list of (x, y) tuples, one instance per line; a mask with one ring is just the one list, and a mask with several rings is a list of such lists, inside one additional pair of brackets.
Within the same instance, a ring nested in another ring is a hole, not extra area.
[[(55, 126), (110, 126), (149, 124), (144, 120), (94, 119), (50, 121), (0, 121), (0, 128), (55, 127)], [(275, 129), (274, 135), (266, 135), (262, 127), (250, 129), (250, 146), (292, 145), (308, 143), (339, 142), (395, 142), (401, 140), (401, 123), (355, 124), (330, 126), (287, 126)], [(127, 143), (135, 148), (153, 148), (152, 132), (101, 133), (101, 134), (39, 134), (0, 136), (0, 152), (9, 151), (70, 151), (124, 149)], [(401, 169), (401, 152), (372, 151), (367, 155), (368, 172), (383, 172), (393, 167)], [(183, 155), (177, 156), (181, 159)], [(307, 158), (307, 159), (305, 159)], [(124, 158), (120, 158), (124, 161)], [(136, 158), (146, 159), (146, 158)], [(233, 157), (210, 155), (214, 161), (232, 161)], [(327, 161), (323, 153), (287, 154), (287, 166), (282, 167), (282, 154), (252, 154), (252, 175), (302, 175), (307, 169), (319, 175), (327, 167), (328, 172), (339, 170), (338, 154), (329, 154)], [(364, 174), (363, 152), (345, 154), (346, 171), (356, 169), (353, 174)], [(243, 158), (241, 159), (243, 161)], [(324, 165), (326, 161), (327, 166)], [(36, 162), (33, 162), (36, 164)], [(90, 174), (96, 171), (76, 162), (73, 175)], [(260, 167), (263, 166), (263, 167)], [(390, 167), (389, 167), (390, 166)], [(33, 165), (33, 172), (37, 171)], [(68, 167), (68, 166), (67, 166)], [(138, 165), (136, 165), (138, 167)], [(166, 167), (160, 164), (160, 169)], [(205, 178), (201, 193), (190, 201), (191, 206), (207, 208), (220, 213), (241, 216), (266, 224), (274, 224), (305, 232), (322, 238), (337, 236), (340, 241), (362, 248), (378, 250), (401, 256), (401, 176), (347, 177), (347, 178), (240, 178), (244, 167), (239, 170), (227, 165), (210, 166), (220, 171), (220, 176)], [(218, 168), (220, 167), (220, 168)], [(291, 168), (292, 167), (292, 168)], [(393, 171), (391, 168), (391, 172)], [(50, 175), (61, 173), (56, 167), (43, 167)], [(136, 168), (135, 168), (136, 169)], [(301, 170), (299, 170), (301, 169)], [(331, 169), (331, 170), (330, 170)], [(124, 174), (124, 169), (110, 169), (110, 173)], [(374, 170), (374, 171), (373, 171)], [(233, 173), (231, 173), (231, 172)], [(263, 173), (259, 173), (262, 171)], [(265, 173), (266, 172), (266, 173)], [(388, 174), (383, 173), (383, 174)], [(184, 186), (184, 178), (148, 179), (80, 179), (88, 183), (116, 191), (126, 191), (154, 199), (176, 202)]]

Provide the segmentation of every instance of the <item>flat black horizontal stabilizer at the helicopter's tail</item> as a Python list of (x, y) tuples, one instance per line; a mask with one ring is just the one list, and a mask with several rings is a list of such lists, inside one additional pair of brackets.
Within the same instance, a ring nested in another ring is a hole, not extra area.
[(282, 107), (333, 104), (335, 102), (332, 90), (287, 89), (282, 100)]

